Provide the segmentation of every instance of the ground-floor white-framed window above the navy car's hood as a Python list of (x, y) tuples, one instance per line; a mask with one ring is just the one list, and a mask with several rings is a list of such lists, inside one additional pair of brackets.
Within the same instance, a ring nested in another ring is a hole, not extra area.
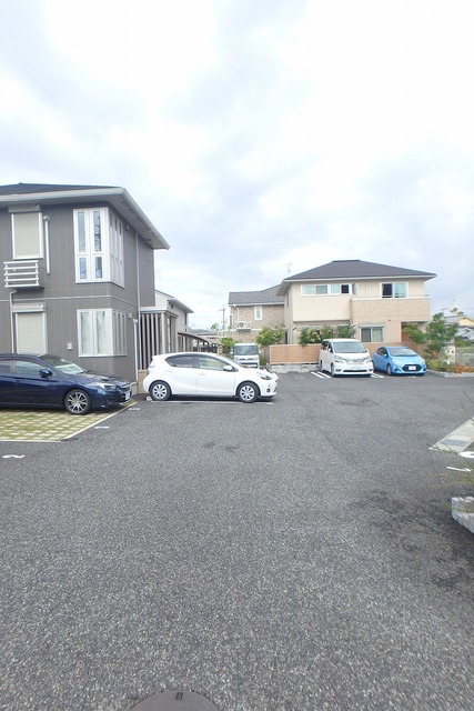
[(79, 356), (127, 356), (125, 314), (112, 309), (78, 311)]

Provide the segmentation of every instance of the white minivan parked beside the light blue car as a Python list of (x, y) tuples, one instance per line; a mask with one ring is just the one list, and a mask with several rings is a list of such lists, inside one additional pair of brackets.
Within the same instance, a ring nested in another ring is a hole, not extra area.
[(367, 349), (354, 338), (330, 338), (321, 343), (320, 370), (331, 375), (372, 375), (374, 367)]

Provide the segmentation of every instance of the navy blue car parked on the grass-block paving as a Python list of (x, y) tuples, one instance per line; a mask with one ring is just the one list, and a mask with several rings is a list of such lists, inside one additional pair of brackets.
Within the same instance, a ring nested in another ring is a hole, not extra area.
[(0, 354), (1, 408), (60, 408), (87, 414), (130, 397), (127, 380), (89, 372), (59, 356)]

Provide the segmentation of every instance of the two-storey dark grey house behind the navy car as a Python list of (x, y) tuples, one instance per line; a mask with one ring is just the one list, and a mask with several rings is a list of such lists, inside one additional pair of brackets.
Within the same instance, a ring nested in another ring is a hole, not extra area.
[(154, 307), (154, 252), (169, 249), (124, 188), (0, 187), (0, 351), (52, 352), (130, 381)]

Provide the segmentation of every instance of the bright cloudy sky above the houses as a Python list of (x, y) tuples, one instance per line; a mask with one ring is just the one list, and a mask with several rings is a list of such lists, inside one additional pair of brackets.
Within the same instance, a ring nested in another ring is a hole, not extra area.
[(0, 0), (0, 184), (121, 186), (157, 288), (334, 259), (434, 272), (474, 317), (472, 0)]

